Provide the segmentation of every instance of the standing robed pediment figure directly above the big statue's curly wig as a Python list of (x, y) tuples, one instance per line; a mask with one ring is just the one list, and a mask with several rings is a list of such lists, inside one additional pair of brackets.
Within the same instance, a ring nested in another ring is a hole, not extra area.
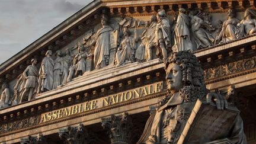
[(185, 9), (179, 9), (179, 15), (177, 18), (176, 27), (174, 29), (174, 46), (172, 50), (179, 52), (181, 50), (193, 50), (193, 46), (190, 40), (190, 19), (185, 14)]

